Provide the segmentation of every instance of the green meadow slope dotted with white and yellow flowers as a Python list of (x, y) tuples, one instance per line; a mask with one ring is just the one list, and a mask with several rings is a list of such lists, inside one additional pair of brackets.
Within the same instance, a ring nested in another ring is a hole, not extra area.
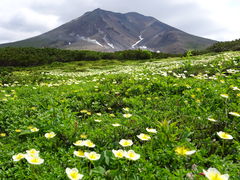
[(228, 52), (1, 69), (0, 179), (206, 179), (210, 167), (239, 179), (239, 67)]

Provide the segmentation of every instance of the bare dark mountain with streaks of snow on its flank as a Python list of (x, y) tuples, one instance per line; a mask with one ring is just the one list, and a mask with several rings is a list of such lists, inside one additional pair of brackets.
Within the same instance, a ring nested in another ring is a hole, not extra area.
[(95, 9), (42, 35), (2, 44), (0, 47), (32, 46), (95, 51), (141, 48), (182, 53), (188, 49), (204, 49), (215, 42), (136, 12), (122, 14)]

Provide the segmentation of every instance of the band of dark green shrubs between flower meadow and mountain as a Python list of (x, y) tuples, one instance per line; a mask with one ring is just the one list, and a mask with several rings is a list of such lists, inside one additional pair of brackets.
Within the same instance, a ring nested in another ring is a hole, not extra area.
[(181, 56), (180, 54), (156, 53), (147, 50), (96, 52), (57, 48), (6, 47), (0, 48), (0, 66), (37, 66), (53, 62), (95, 61), (100, 59), (143, 60)]

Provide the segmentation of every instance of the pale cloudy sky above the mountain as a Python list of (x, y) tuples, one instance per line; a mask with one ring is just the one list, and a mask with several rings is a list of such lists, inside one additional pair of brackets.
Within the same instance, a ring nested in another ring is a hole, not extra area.
[(240, 0), (0, 0), (0, 43), (39, 35), (96, 8), (139, 12), (219, 41), (240, 38)]

